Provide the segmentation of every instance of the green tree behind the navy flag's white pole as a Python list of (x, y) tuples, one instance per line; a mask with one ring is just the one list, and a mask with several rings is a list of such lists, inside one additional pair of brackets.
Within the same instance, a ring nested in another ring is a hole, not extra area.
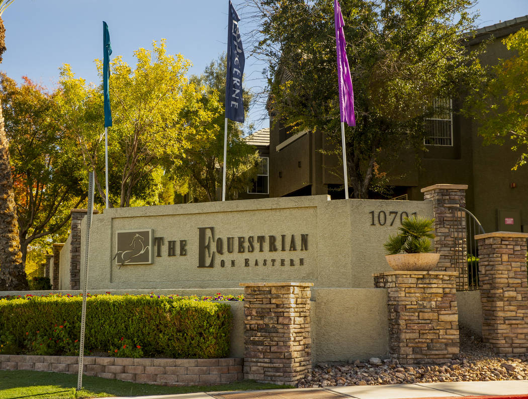
[[(180, 180), (180, 192), (188, 189), (200, 201), (218, 201), (222, 188), (223, 149), (224, 149), (224, 98), (225, 98), (226, 57), (211, 61), (200, 77), (191, 82), (203, 88), (204, 103), (215, 105), (213, 118), (205, 128), (212, 136), (191, 136), (190, 147), (185, 151), (181, 163), (174, 168)], [(244, 110), (247, 112), (251, 95), (244, 89)], [(251, 127), (250, 127), (251, 128)], [(225, 192), (227, 199), (236, 198), (237, 193), (246, 190), (255, 172), (256, 151), (243, 139), (241, 124), (228, 120), (227, 169)], [(205, 140), (204, 140), (205, 139)], [(182, 184), (186, 183), (186, 184)], [(183, 189), (182, 189), (183, 188)]]

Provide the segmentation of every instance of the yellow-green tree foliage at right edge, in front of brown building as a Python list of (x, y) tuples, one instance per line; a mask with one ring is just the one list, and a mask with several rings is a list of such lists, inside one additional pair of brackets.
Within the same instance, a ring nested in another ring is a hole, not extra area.
[(524, 28), (503, 40), (512, 57), (485, 68), (487, 79), (466, 98), (465, 114), (479, 124), (486, 144), (513, 141), (520, 151), (513, 169), (528, 161), (528, 31)]

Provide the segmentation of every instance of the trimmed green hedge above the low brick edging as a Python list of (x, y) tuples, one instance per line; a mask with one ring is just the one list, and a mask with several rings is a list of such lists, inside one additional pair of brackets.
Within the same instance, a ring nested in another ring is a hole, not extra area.
[[(82, 298), (0, 299), (0, 353), (78, 353)], [(215, 358), (229, 354), (230, 305), (156, 295), (87, 299), (84, 350), (119, 357)]]

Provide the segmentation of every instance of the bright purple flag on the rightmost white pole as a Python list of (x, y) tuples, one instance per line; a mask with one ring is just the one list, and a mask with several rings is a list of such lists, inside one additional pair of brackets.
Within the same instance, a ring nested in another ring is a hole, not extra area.
[(350, 67), (346, 58), (346, 41), (343, 27), (343, 15), (341, 6), (337, 0), (334, 0), (334, 17), (335, 17), (335, 42), (337, 47), (337, 81), (339, 85), (339, 108), (341, 112), (341, 122), (346, 122), (348, 126), (356, 125), (354, 116), (354, 90), (352, 89), (352, 78), (350, 76)]

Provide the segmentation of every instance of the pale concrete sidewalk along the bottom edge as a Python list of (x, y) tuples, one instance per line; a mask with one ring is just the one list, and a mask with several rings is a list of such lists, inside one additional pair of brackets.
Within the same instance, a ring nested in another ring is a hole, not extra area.
[[(334, 386), (265, 391), (199, 392), (182, 395), (135, 396), (135, 399), (407, 399), (432, 397), (526, 395), (528, 381), (472, 381), (398, 385)], [(103, 398), (103, 399), (129, 399)]]

